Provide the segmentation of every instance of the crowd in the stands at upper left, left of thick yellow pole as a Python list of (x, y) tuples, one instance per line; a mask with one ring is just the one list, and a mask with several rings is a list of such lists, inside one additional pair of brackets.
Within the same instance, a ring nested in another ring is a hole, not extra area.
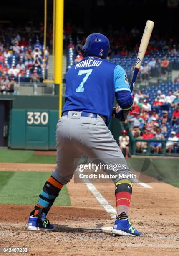
[(42, 27), (0, 27), (0, 92), (15, 92), (19, 81), (42, 82), (43, 73), (46, 78), (49, 49), (44, 60), (42, 35)]

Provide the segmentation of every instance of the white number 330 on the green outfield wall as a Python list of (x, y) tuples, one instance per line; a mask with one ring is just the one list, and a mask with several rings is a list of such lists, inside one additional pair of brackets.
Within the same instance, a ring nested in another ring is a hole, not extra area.
[(42, 124), (46, 125), (48, 123), (48, 113), (47, 112), (27, 112), (27, 124)]

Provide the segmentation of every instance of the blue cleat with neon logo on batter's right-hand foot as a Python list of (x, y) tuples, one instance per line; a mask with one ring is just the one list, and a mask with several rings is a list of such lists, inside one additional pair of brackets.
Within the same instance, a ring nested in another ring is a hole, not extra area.
[(112, 233), (120, 236), (141, 236), (141, 232), (136, 230), (128, 219), (116, 220)]

